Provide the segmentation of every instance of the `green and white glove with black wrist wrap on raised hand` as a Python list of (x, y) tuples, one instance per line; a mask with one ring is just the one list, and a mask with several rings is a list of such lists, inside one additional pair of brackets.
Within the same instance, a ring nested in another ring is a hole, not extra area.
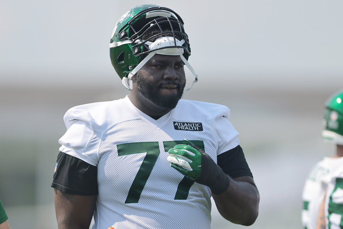
[(192, 142), (184, 139), (186, 145), (176, 145), (169, 149), (167, 160), (170, 166), (199, 184), (210, 187), (213, 194), (223, 193), (229, 186), (229, 177)]

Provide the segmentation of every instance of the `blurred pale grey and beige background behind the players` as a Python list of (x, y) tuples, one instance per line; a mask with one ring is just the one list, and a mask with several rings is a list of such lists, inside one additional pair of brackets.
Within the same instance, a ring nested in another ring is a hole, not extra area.
[[(50, 184), (63, 115), (129, 93), (109, 40), (120, 16), (146, 3), (185, 21), (199, 82), (184, 99), (231, 110), (261, 195), (249, 228), (301, 228), (306, 175), (335, 150), (320, 134), (323, 104), (343, 88), (341, 0), (2, 0), (0, 199), (11, 228), (57, 228)], [(212, 228), (245, 227), (213, 205)]]

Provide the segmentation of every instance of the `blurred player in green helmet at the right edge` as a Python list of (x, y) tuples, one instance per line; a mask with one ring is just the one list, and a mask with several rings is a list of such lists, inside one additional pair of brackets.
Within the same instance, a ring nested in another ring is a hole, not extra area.
[(343, 228), (343, 91), (325, 104), (324, 141), (336, 145), (336, 153), (324, 157), (311, 169), (303, 189), (303, 228)]

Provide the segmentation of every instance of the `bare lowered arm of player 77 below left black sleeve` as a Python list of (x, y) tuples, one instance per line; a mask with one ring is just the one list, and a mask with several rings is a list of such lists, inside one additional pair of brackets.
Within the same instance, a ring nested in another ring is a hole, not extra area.
[(58, 229), (88, 229), (97, 195), (81, 196), (61, 192), (54, 188)]

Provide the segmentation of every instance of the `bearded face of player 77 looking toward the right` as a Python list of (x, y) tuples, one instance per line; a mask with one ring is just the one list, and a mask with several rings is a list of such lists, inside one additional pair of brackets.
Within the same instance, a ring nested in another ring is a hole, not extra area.
[(155, 54), (137, 72), (136, 83), (141, 101), (147, 99), (161, 110), (173, 109), (186, 85), (184, 62), (180, 56)]

